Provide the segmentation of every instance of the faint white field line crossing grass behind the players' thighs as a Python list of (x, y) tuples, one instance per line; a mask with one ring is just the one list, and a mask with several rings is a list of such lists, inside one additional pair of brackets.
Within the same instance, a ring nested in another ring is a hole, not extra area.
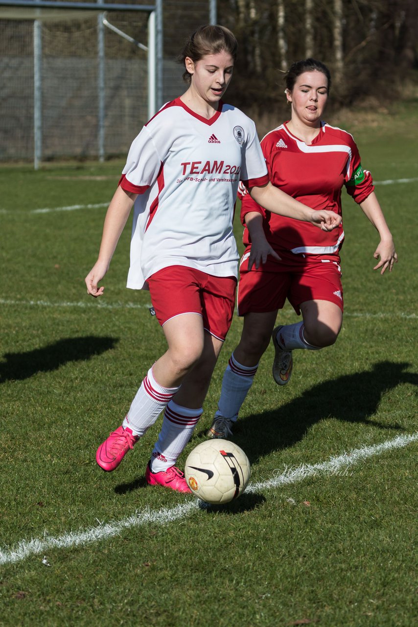
[[(84, 300), (79, 300), (75, 302), (50, 302), (48, 300), (13, 300), (11, 298), (0, 298), (0, 305), (12, 305), (18, 307), (81, 307), (81, 308), (90, 308), (90, 307), (98, 307), (103, 309), (149, 309), (152, 305), (151, 303), (107, 303), (103, 300), (92, 300), (91, 298)], [(283, 314), (286, 317), (288, 314)], [(418, 318), (418, 314), (405, 314), (404, 312), (387, 312), (379, 314), (368, 314), (367, 312), (344, 312), (345, 317), (352, 318), (405, 318), (415, 320)]]

